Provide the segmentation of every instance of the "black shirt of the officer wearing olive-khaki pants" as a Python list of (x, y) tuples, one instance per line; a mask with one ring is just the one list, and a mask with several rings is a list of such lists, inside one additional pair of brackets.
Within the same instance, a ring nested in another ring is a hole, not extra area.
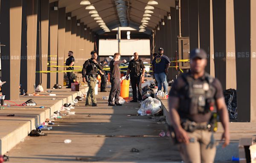
[(88, 59), (87, 61), (84, 62), (83, 65), (83, 69), (82, 69), (82, 76), (85, 77), (85, 75), (96, 75), (97, 71), (102, 70), (103, 67), (102, 65), (99, 64), (99, 62), (97, 61), (97, 63), (93, 62), (93, 59)]

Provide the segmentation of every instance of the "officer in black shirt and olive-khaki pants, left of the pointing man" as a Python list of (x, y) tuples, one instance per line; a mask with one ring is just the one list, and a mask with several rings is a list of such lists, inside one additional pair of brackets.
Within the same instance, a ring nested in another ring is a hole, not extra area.
[(98, 55), (95, 51), (91, 52), (91, 59), (84, 62), (82, 69), (83, 82), (88, 83), (89, 90), (87, 92), (85, 106), (97, 106), (95, 97), (96, 74), (98, 69), (102, 70), (102, 65), (96, 60)]

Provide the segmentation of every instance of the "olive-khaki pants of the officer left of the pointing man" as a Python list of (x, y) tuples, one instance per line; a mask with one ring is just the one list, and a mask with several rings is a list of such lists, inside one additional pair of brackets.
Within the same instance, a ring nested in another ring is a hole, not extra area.
[(87, 97), (86, 97), (86, 102), (85, 104), (92, 104), (97, 103), (96, 97), (95, 97), (95, 86), (96, 86), (96, 79), (93, 79), (93, 77), (89, 76), (88, 79), (90, 82), (88, 82), (88, 92), (87, 92)]

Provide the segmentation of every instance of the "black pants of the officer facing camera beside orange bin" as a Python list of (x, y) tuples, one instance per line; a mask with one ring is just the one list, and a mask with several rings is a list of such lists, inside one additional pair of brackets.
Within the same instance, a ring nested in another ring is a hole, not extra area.
[(142, 100), (141, 77), (131, 76), (132, 96), (137, 100), (137, 87), (138, 87), (138, 100)]

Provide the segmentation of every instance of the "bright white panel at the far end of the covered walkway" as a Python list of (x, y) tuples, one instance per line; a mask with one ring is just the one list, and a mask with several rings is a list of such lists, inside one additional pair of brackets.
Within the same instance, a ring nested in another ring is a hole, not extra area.
[[(122, 56), (133, 56), (137, 52), (140, 56), (150, 56), (149, 39), (122, 39), (120, 42)], [(117, 39), (99, 39), (99, 56), (113, 56), (118, 52)]]

